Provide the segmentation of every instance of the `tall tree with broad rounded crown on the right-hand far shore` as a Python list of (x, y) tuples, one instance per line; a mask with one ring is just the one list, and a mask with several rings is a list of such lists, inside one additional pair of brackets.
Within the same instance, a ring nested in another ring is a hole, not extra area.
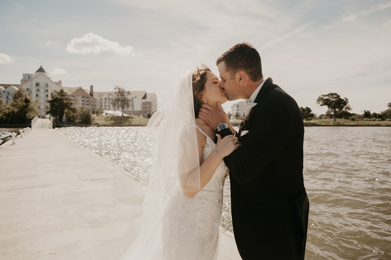
[(316, 100), (316, 103), (320, 106), (328, 107), (326, 115), (334, 115), (334, 122), (335, 118), (338, 117), (338, 114), (340, 112), (348, 112), (349, 110), (351, 110), (348, 99), (342, 99), (341, 96), (337, 93), (329, 93), (327, 95), (319, 96), (319, 98)]

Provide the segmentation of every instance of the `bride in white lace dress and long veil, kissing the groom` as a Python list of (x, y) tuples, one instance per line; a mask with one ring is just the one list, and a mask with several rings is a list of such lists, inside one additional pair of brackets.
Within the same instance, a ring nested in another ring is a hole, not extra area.
[(222, 159), (239, 148), (234, 135), (217, 135), (215, 144), (216, 130), (198, 118), (202, 103), (217, 109), (228, 100), (219, 83), (205, 65), (185, 70), (148, 122), (157, 134), (140, 235), (121, 260), (217, 259), (228, 176)]

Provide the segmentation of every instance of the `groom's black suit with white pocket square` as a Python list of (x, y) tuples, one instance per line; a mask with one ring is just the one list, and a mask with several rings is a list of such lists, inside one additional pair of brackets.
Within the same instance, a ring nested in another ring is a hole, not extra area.
[[(296, 101), (267, 79), (241, 130), (241, 147), (224, 158), (232, 222), (243, 260), (304, 259), (309, 202), (303, 181), (304, 125)], [(219, 132), (231, 135), (229, 129)]]

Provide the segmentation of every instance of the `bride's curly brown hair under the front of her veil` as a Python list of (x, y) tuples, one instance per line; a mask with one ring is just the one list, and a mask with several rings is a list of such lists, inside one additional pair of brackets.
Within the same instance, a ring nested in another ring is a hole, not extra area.
[(198, 117), (199, 109), (204, 103), (202, 99), (202, 91), (205, 89), (206, 73), (211, 71), (210, 68), (202, 64), (201, 68), (193, 72), (193, 101), (194, 101), (194, 114), (195, 118)]

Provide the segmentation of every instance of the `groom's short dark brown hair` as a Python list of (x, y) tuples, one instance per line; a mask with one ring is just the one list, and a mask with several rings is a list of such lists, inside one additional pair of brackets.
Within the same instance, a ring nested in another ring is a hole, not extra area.
[(244, 71), (250, 80), (257, 82), (263, 79), (261, 56), (249, 42), (235, 44), (216, 60), (216, 65), (223, 62), (233, 79), (238, 71)]

